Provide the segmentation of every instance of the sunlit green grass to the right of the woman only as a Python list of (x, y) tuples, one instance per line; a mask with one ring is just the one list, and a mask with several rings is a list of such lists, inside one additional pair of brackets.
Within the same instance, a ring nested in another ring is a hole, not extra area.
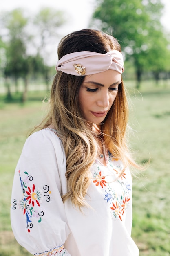
[[(147, 85), (146, 85), (147, 86)], [(131, 91), (131, 146), (146, 171), (133, 179), (132, 237), (140, 256), (170, 255), (170, 86)]]

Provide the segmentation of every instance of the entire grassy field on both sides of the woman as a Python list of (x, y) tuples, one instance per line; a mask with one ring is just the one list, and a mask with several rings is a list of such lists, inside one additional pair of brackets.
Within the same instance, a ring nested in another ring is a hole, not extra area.
[[(132, 237), (140, 256), (170, 255), (170, 83), (143, 83), (130, 92), (130, 144), (146, 171), (133, 178)], [(29, 256), (13, 237), (10, 200), (13, 174), (29, 131), (42, 119), (45, 92), (30, 92), (29, 100), (8, 103), (0, 95), (0, 256)]]

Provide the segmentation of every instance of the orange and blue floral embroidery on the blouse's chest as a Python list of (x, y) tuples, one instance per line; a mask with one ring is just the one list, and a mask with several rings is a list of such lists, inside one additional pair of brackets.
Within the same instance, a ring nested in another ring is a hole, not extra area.
[[(131, 185), (128, 181), (126, 182), (127, 175), (125, 172), (121, 177), (119, 176), (122, 172), (119, 159), (115, 159), (109, 152), (108, 155), (109, 162), (107, 167), (100, 167), (94, 164), (93, 183), (95, 183), (96, 186), (100, 185), (101, 189), (104, 189), (104, 200), (111, 204), (111, 216), (122, 221), (122, 217), (130, 201)], [(113, 164), (114, 161), (116, 163)], [(110, 173), (102, 175), (104, 168), (109, 168)], [(98, 171), (96, 171), (96, 169)]]

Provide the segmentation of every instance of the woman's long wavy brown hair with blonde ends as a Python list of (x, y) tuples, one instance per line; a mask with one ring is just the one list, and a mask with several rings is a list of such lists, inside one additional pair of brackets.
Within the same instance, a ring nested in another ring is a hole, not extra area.
[[(79, 51), (105, 54), (111, 50), (121, 52), (117, 39), (102, 31), (82, 29), (65, 36), (58, 46), (58, 58)], [(71, 198), (81, 209), (87, 205), (84, 196), (90, 183), (90, 168), (97, 157), (97, 142), (88, 128), (79, 106), (79, 88), (85, 76), (73, 76), (64, 72), (55, 75), (49, 102), (49, 112), (37, 128), (47, 128), (51, 124), (62, 140), (66, 154), (66, 178), (68, 193), (63, 201)], [(121, 81), (116, 99), (104, 122), (98, 124), (106, 147), (116, 158), (127, 165), (137, 166), (130, 156), (126, 144), (128, 103), (124, 83)], [(124, 171), (124, 170), (123, 170)]]

